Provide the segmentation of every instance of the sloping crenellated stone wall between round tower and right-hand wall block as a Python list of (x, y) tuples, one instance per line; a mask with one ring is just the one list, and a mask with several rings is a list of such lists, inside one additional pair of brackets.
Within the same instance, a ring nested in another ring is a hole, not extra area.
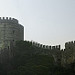
[(52, 55), (56, 64), (61, 63), (61, 46), (60, 45), (48, 46), (48, 45), (37, 43), (35, 41), (31, 41), (30, 43), (32, 44), (33, 47), (35, 47), (34, 54)]

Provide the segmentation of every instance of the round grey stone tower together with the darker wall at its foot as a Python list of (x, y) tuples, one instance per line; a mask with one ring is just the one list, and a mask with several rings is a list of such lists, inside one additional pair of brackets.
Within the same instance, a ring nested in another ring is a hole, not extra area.
[(16, 41), (24, 40), (24, 27), (11, 17), (0, 17), (0, 63), (8, 61)]

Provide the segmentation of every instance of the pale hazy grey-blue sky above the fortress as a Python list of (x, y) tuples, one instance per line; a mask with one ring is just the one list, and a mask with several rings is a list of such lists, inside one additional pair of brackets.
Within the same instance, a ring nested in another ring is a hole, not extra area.
[(18, 19), (25, 40), (62, 47), (75, 40), (75, 0), (0, 0), (0, 16)]

